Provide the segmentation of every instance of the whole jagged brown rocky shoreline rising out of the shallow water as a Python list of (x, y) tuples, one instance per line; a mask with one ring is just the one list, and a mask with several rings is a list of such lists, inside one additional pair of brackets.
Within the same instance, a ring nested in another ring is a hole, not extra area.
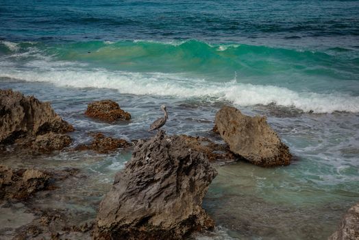
[[(111, 124), (131, 119), (111, 100), (88, 104), (84, 115)], [(117, 149), (133, 149), (131, 160), (116, 173), (112, 189), (99, 204), (94, 221), (76, 225), (66, 222), (66, 213), (32, 209), (37, 217), (18, 228), (14, 239), (184, 239), (215, 226), (201, 206), (216, 176), (213, 163), (245, 160), (261, 167), (275, 167), (289, 165), (292, 158), (265, 117), (248, 117), (228, 106), (216, 113), (214, 126), (225, 144), (200, 136), (170, 136), (160, 130), (151, 139), (134, 143), (89, 132), (92, 142), (74, 147), (66, 133), (75, 129), (55, 114), (49, 103), (11, 90), (0, 90), (0, 122), (0, 151), (9, 156), (14, 152), (90, 150), (109, 154)], [(61, 187), (62, 181), (77, 178), (79, 171), (0, 165), (0, 204), (26, 205), (27, 199), (36, 198), (36, 192)], [(335, 236), (332, 239), (345, 239), (338, 237), (343, 234)]]

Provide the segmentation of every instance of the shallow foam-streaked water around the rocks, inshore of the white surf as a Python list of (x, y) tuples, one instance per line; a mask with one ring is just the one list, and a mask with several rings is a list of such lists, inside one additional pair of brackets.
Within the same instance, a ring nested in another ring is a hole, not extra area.
[[(91, 140), (86, 132), (104, 132), (127, 140), (147, 138), (147, 126), (161, 115), (166, 104), (169, 134), (190, 134), (217, 139), (210, 130), (214, 115), (225, 101), (179, 99), (143, 95), (122, 95), (99, 88), (64, 88), (46, 83), (3, 80), (13, 88), (53, 108), (77, 130), (73, 145)], [(132, 113), (127, 124), (108, 124), (84, 116), (86, 104), (95, 99), (114, 99)], [(262, 168), (240, 162), (217, 166), (219, 175), (210, 185), (203, 207), (219, 226), (214, 233), (197, 239), (325, 239), (341, 216), (359, 198), (357, 113), (308, 114), (277, 106), (241, 108), (248, 115), (267, 115), (295, 156), (287, 167)], [(129, 150), (101, 155), (93, 152), (62, 152), (29, 159), (24, 156), (2, 159), (18, 167), (43, 166), (62, 169), (77, 167), (84, 178), (67, 183), (48, 200), (34, 200), (42, 207), (75, 209), (81, 221), (95, 217), (97, 204), (112, 184), (114, 173), (130, 158)], [(24, 159), (25, 158), (25, 159)], [(42, 193), (38, 193), (41, 195)], [(81, 214), (80, 214), (81, 213)], [(205, 237), (207, 236), (207, 237)]]

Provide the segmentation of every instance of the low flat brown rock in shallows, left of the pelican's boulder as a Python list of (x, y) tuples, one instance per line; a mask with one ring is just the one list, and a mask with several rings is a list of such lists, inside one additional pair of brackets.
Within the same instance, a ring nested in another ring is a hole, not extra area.
[(110, 136), (105, 136), (101, 132), (94, 134), (94, 139), (90, 145), (77, 145), (74, 151), (93, 150), (98, 154), (108, 154), (118, 148), (130, 147), (132, 143), (128, 143), (124, 139), (113, 139)]

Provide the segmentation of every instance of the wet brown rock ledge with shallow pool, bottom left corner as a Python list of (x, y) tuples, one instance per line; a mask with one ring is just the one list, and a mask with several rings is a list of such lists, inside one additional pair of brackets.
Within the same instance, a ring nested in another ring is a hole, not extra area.
[(15, 170), (0, 166), (0, 238), (90, 239), (95, 216), (50, 204), (53, 197), (64, 197), (64, 186), (79, 180), (86, 181), (75, 168)]

